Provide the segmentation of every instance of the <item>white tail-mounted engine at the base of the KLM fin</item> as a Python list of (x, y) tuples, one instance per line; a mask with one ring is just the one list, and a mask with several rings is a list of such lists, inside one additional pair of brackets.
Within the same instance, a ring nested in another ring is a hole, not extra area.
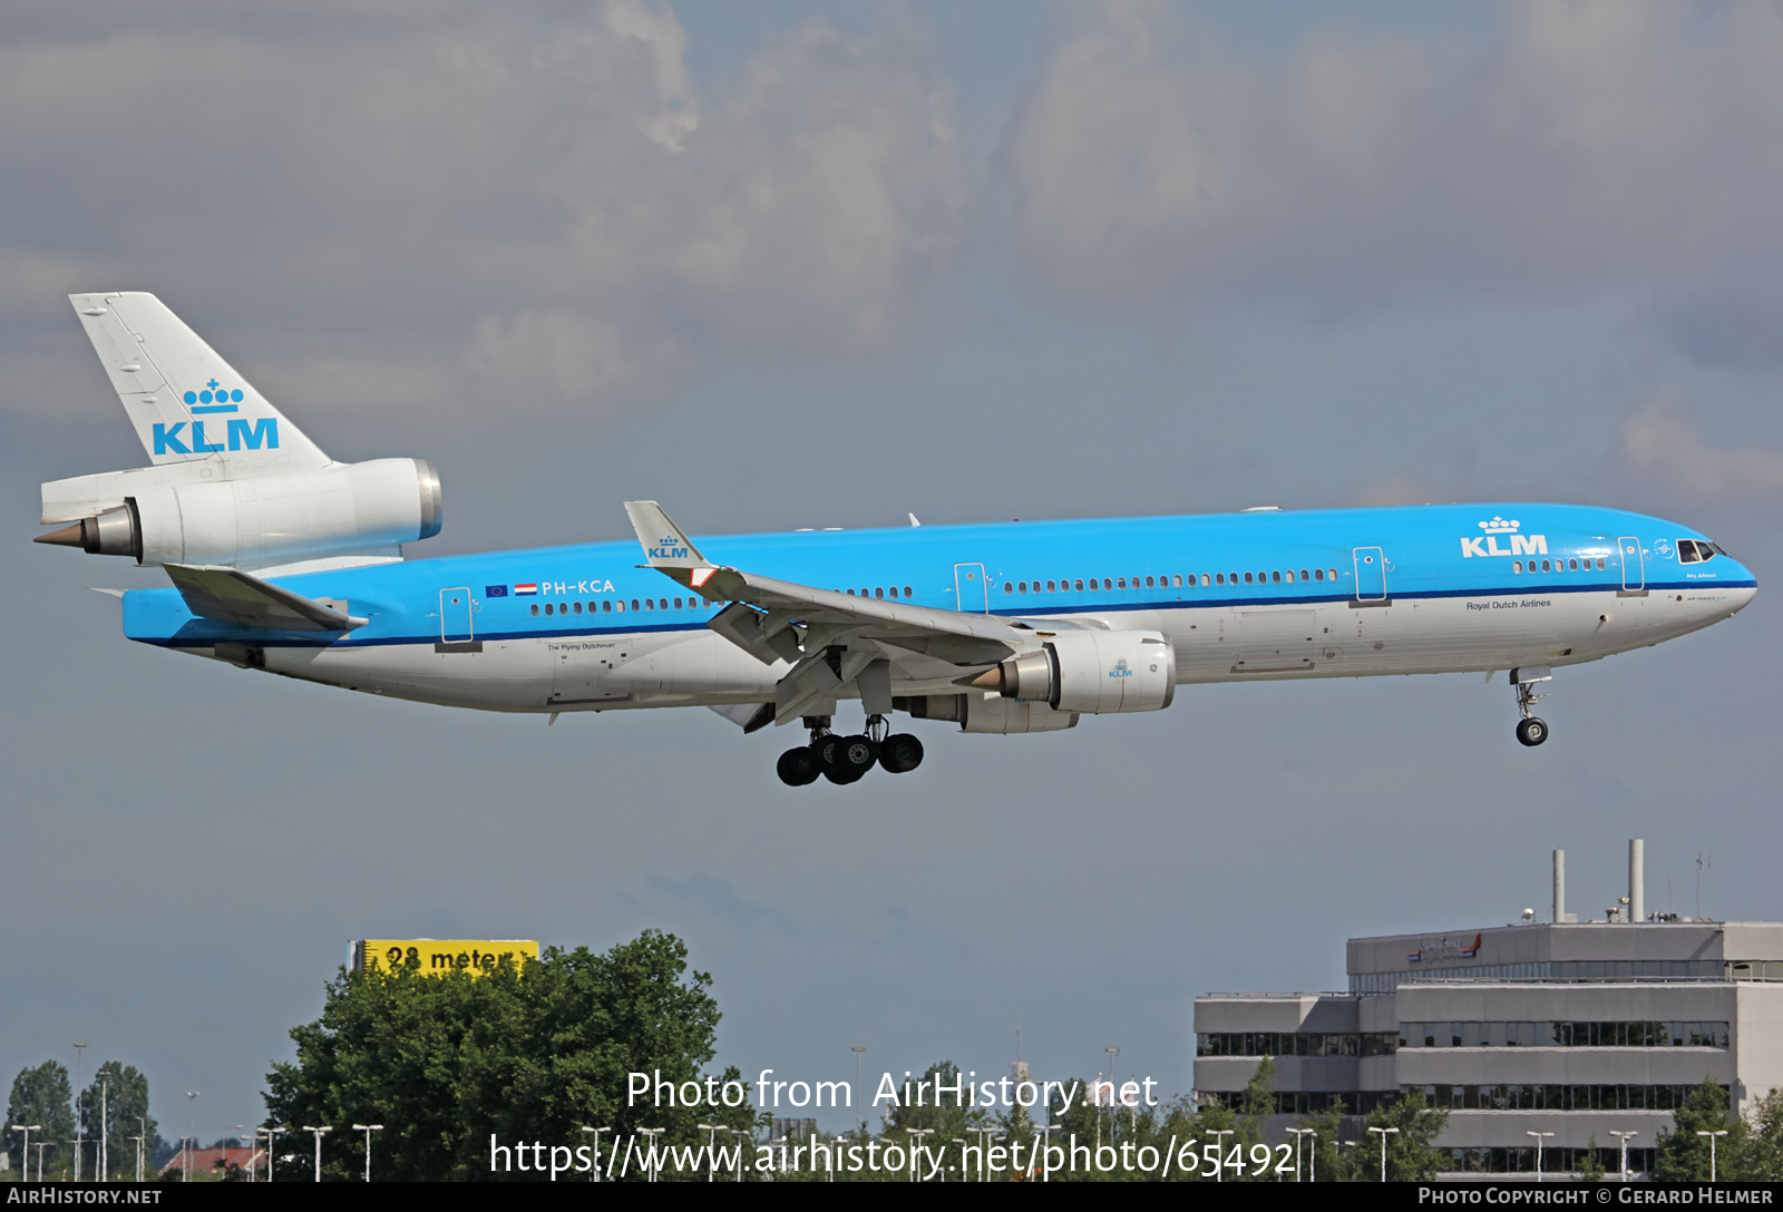
[[(116, 497), (112, 497), (116, 501)], [(394, 547), (440, 531), (440, 478), (423, 458), (144, 487), (37, 542), (139, 563), (264, 565)]]

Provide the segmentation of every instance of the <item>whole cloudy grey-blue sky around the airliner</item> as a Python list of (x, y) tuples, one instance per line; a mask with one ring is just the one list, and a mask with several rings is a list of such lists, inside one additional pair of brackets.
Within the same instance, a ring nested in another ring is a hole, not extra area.
[[(1778, 920), (1774, 595), (1564, 668), (915, 725), (788, 790), (704, 709), (499, 717), (132, 645), (159, 570), (29, 544), (143, 463), (71, 314), (152, 291), (410, 556), (694, 533), (1580, 501), (1783, 558), (1778, 4), (0, 11), (0, 1075), (73, 1041), (164, 1135), (264, 1114), (355, 938), (681, 936), (719, 1064), (1193, 1082), (1193, 998), (1352, 936)], [(797, 738), (793, 738), (797, 740)], [(1705, 866), (1697, 859), (1705, 859)], [(196, 1100), (184, 1091), (200, 1091)], [(833, 1116), (834, 1118), (834, 1116)], [(847, 1116), (838, 1118), (838, 1125)]]

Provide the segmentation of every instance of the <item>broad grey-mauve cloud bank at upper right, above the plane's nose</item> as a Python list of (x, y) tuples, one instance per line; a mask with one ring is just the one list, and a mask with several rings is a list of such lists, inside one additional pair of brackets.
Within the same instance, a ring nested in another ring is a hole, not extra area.
[(1136, 312), (1348, 312), (1681, 298), (1783, 253), (1783, 11), (1505, 12), (1485, 45), (1328, 25), (1252, 61), (1175, 9), (1073, 9), (1007, 134), (1027, 280)]

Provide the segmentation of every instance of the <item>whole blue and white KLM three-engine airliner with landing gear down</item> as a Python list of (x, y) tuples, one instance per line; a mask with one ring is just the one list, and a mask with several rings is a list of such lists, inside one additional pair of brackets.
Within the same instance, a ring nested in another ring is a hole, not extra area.
[(150, 465), (43, 485), (66, 526), (37, 542), (166, 570), (123, 594), (128, 638), (455, 708), (797, 724), (793, 786), (913, 770), (899, 711), (1048, 733), (1287, 677), (1508, 670), (1541, 745), (1555, 668), (1758, 592), (1687, 526), (1532, 503), (688, 536), (631, 501), (637, 544), (405, 560), (440, 529), (431, 463), (333, 462), (155, 296), (71, 298)]

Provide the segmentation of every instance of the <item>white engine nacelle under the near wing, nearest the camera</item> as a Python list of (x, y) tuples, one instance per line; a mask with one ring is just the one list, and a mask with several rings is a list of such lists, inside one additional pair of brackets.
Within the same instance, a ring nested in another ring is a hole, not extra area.
[(1159, 631), (1063, 631), (974, 684), (1054, 711), (1161, 711), (1177, 697), (1177, 649)]

